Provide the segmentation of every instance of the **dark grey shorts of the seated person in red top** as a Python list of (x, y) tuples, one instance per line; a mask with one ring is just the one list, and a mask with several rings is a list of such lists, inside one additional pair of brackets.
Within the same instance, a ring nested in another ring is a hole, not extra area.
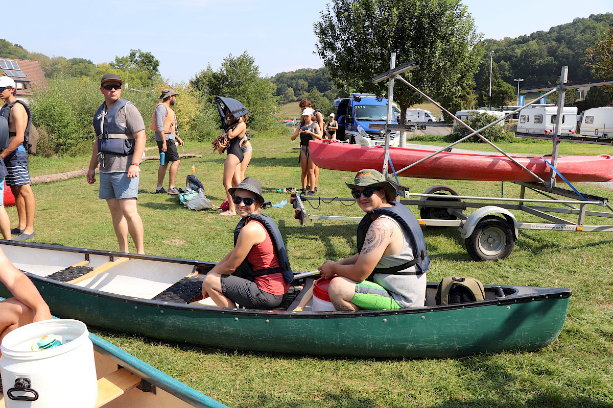
[(281, 304), (283, 295), (273, 295), (255, 282), (234, 275), (221, 275), (221, 293), (232, 302), (249, 309), (270, 309)]

